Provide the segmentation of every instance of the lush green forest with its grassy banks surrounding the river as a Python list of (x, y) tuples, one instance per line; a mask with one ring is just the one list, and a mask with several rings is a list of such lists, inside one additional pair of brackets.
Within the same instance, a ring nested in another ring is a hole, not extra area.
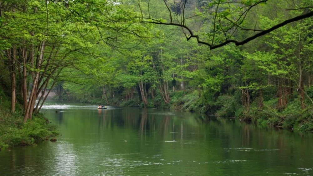
[(0, 25), (0, 147), (57, 134), (51, 92), (313, 131), (311, 0), (0, 0)]

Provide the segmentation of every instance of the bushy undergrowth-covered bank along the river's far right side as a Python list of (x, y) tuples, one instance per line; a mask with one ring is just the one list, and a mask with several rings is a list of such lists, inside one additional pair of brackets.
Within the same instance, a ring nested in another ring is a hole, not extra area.
[[(139, 96), (132, 99), (122, 97), (110, 98), (110, 105), (123, 107), (144, 107)], [(222, 118), (236, 118), (240, 121), (248, 121), (262, 126), (297, 130), (301, 132), (313, 132), (313, 109), (307, 106), (300, 108), (300, 98), (297, 95), (290, 97), (290, 101), (284, 108), (277, 108), (278, 98), (264, 96), (262, 106), (260, 101), (254, 99), (249, 110), (242, 105), (240, 92), (222, 94), (216, 97), (199, 94), (194, 91), (175, 91), (170, 93), (171, 101), (164, 103), (161, 95), (148, 98), (148, 108), (178, 109), (182, 111), (206, 113)], [(107, 104), (104, 99), (93, 99), (84, 103)], [(306, 102), (310, 105), (311, 103)]]

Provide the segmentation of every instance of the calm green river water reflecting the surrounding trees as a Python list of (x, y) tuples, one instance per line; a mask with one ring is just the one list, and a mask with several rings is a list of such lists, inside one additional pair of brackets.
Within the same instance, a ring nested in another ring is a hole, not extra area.
[[(55, 113), (55, 111), (59, 113)], [(313, 135), (203, 114), (46, 103), (57, 142), (0, 151), (0, 175), (313, 175)]]

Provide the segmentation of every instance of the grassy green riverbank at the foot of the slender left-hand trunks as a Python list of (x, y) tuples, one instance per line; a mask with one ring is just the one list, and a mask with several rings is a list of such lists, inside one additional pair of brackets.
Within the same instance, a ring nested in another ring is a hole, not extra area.
[(23, 123), (23, 109), (17, 104), (16, 112), (10, 113), (10, 101), (4, 96), (0, 103), (0, 150), (3, 148), (34, 145), (58, 135), (56, 126), (51, 125), (42, 114), (33, 116)]

